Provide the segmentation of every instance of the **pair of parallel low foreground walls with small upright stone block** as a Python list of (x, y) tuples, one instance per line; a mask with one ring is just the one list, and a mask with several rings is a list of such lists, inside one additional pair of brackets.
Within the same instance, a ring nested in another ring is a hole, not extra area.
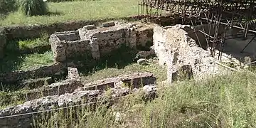
[[(129, 95), (137, 91), (134, 89), (141, 87), (148, 95), (156, 93), (154, 90), (156, 78), (151, 73), (121, 75), (117, 78), (107, 78), (84, 84), (80, 80), (78, 72), (74, 72), (76, 68), (69, 69), (72, 69), (69, 70), (69, 75), (76, 76), (76, 78), (29, 90), (24, 94), (27, 97), (27, 102), (1, 110), (0, 127), (30, 127), (33, 116), (40, 114), (29, 114), (31, 112), (79, 105), (85, 99), (87, 103), (97, 102), (106, 96), (105, 90), (111, 90), (112, 98)], [(14, 117), (6, 117), (9, 115), (14, 115)]]

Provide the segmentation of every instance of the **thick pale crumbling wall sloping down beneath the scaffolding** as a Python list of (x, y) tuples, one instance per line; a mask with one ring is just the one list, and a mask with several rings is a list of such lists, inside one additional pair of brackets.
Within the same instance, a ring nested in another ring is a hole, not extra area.
[(184, 31), (188, 29), (191, 29), (190, 26), (154, 27), (154, 50), (159, 58), (159, 65), (167, 67), (168, 81), (174, 80), (181, 70), (191, 70), (188, 74), (193, 75), (196, 80), (226, 73), (227, 70), (216, 64), (208, 51), (203, 50), (188, 36)]

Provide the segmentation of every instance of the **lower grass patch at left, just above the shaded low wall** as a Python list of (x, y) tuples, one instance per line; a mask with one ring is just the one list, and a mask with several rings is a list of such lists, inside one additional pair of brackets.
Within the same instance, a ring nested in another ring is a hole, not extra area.
[(3, 60), (1, 60), (0, 73), (6, 73), (14, 70), (28, 70), (51, 63), (54, 63), (53, 53), (51, 51), (28, 55), (9, 53)]

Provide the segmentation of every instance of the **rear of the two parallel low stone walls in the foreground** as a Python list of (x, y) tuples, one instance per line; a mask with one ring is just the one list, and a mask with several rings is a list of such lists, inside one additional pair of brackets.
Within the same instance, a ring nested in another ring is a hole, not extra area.
[(117, 78), (107, 78), (104, 80), (98, 80), (83, 84), (78, 79), (68, 79), (63, 82), (56, 82), (46, 87), (40, 87), (35, 90), (29, 90), (26, 92), (26, 100), (34, 100), (39, 97), (46, 97), (49, 95), (63, 95), (65, 93), (72, 93), (78, 90), (107, 90), (108, 88), (117, 87), (117, 83), (127, 85), (131, 88), (139, 88), (144, 85), (154, 84), (156, 78), (151, 73), (134, 73), (131, 75), (122, 75)]

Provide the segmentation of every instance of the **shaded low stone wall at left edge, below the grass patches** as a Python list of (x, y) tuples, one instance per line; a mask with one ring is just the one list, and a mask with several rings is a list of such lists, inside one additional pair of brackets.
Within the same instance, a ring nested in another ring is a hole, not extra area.
[(63, 63), (54, 63), (30, 70), (18, 70), (10, 73), (0, 73), (0, 82), (11, 83), (28, 78), (43, 78), (55, 73), (63, 73), (67, 69)]

